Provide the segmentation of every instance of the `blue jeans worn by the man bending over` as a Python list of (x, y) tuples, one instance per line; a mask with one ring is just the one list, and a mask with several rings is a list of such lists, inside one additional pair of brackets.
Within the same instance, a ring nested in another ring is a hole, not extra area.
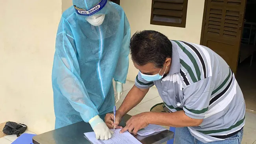
[[(243, 129), (236, 135), (221, 141), (208, 142), (206, 144), (241, 144)], [(174, 144), (205, 144), (193, 137), (187, 127), (177, 127), (174, 136)]]

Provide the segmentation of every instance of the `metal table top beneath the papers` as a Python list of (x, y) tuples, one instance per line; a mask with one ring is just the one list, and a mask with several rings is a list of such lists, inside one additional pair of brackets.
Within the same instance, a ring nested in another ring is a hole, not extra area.
[[(105, 114), (100, 116), (103, 120)], [(122, 118), (121, 126), (125, 126), (125, 122), (131, 116), (126, 114)], [(55, 129), (41, 135), (36, 135), (33, 137), (34, 144), (91, 144), (89, 140), (83, 135), (83, 133), (91, 132), (93, 129), (91, 128), (89, 123), (78, 122), (75, 124), (71, 124), (69, 126), (61, 127), (59, 129)], [(169, 130), (161, 131), (158, 133), (153, 133), (148, 136), (139, 136), (134, 135), (137, 140), (139, 140), (143, 144), (162, 144), (173, 138), (174, 133)]]

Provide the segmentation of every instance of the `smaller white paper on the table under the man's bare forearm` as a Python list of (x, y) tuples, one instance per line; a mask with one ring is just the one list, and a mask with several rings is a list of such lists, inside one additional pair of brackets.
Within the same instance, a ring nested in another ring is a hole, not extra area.
[(166, 130), (164, 127), (155, 125), (155, 124), (149, 124), (147, 127), (140, 129), (137, 134), (140, 136), (146, 136), (150, 135), (152, 133), (158, 132), (158, 131), (164, 131)]

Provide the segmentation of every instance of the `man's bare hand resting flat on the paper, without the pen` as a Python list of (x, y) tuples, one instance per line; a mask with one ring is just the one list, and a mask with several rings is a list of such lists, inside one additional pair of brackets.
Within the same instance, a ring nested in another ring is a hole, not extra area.
[(137, 135), (137, 132), (148, 126), (148, 116), (149, 116), (149, 112), (147, 113), (141, 113), (141, 114), (137, 114), (135, 116), (132, 116), (127, 122), (126, 122), (126, 126), (121, 129), (120, 133), (124, 133), (125, 131), (129, 131), (130, 133), (134, 133), (134, 135)]

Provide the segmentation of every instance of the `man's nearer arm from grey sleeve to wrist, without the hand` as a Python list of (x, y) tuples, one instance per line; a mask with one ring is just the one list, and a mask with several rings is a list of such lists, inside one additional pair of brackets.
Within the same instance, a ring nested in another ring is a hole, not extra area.
[(149, 117), (154, 118), (149, 118), (148, 121), (150, 124), (173, 127), (199, 126), (208, 111), (213, 88), (211, 77), (184, 87), (184, 107), (182, 111), (151, 113)]

